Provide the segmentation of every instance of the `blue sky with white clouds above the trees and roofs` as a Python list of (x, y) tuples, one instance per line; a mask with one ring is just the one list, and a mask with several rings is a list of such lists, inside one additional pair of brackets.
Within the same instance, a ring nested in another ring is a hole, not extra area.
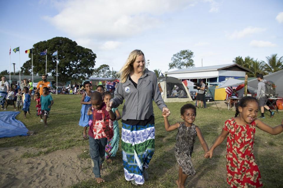
[[(150, 60), (149, 70), (162, 72), (184, 49), (194, 52), (196, 67), (202, 58), (210, 66), (283, 56), (283, 1), (3, 1), (0, 15), (0, 71), (9, 70), (9, 46), (20, 46), (22, 65), (25, 50), (56, 36), (92, 49), (95, 68), (114, 70), (134, 49)], [(11, 52), (11, 63), (19, 70), (19, 52)]]

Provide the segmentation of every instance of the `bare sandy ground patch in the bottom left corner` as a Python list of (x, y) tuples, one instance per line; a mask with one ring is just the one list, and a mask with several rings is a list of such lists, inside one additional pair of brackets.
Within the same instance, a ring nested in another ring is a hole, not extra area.
[[(80, 148), (21, 159), (34, 148), (0, 148), (0, 187), (68, 187), (93, 177), (90, 159), (79, 159)], [(88, 168), (83, 172), (83, 168)], [(103, 172), (102, 172), (103, 173)]]

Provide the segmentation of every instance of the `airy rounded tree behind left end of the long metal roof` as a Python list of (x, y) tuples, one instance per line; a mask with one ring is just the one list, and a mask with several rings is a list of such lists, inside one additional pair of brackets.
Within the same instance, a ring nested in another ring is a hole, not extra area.
[(194, 53), (190, 50), (181, 50), (178, 53), (175, 53), (171, 58), (171, 63), (169, 63), (169, 69), (172, 68), (190, 68), (194, 67)]

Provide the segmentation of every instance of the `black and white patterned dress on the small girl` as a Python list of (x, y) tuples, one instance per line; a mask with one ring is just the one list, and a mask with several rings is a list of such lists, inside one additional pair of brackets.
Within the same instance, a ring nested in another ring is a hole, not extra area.
[(197, 131), (195, 130), (196, 126), (192, 124), (191, 127), (186, 127), (184, 122), (179, 122), (179, 124), (175, 144), (175, 157), (178, 164), (183, 169), (183, 174), (195, 175), (191, 155), (194, 148), (195, 137), (197, 136)]

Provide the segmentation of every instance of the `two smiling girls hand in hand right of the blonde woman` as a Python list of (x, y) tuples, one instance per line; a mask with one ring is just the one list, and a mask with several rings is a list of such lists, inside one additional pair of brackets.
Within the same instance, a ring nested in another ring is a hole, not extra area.
[(166, 112), (162, 114), (167, 131), (178, 129), (175, 144), (175, 157), (179, 164), (179, 179), (176, 181), (178, 187), (185, 187), (188, 175), (195, 174), (191, 155), (196, 136), (205, 151), (205, 158), (213, 157), (215, 148), (228, 136), (226, 168), (227, 182), (231, 187), (257, 188), (263, 186), (259, 168), (254, 159), (255, 130), (258, 127), (269, 134), (277, 135), (283, 132), (283, 120), (281, 125), (270, 127), (257, 119), (259, 103), (254, 97), (243, 97), (237, 108), (238, 116), (224, 123), (221, 134), (210, 149), (208, 149), (200, 128), (193, 124), (197, 113), (194, 105), (186, 104), (181, 108), (181, 117), (184, 122), (170, 125)]

